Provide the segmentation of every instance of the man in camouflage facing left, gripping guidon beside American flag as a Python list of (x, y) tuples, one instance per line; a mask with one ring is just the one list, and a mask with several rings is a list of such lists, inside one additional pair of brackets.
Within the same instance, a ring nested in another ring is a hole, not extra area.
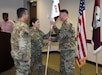
[(63, 9), (60, 11), (60, 19), (63, 22), (60, 29), (58, 29), (54, 22), (54, 31), (57, 34), (59, 41), (60, 52), (60, 75), (75, 75), (75, 30), (72, 23), (68, 19), (68, 11)]

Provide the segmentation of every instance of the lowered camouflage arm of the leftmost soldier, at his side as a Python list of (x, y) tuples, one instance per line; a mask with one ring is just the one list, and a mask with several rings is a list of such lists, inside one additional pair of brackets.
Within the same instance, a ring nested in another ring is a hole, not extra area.
[(29, 29), (28, 26), (23, 26), (22, 27), (22, 38), (24, 39), (23, 42), (23, 61), (29, 61), (30, 56), (31, 56), (31, 39), (29, 35)]

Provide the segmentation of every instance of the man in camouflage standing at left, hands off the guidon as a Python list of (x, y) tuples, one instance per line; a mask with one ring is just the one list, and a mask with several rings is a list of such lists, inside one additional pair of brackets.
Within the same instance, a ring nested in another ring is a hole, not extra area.
[(11, 33), (11, 55), (16, 67), (16, 75), (29, 75), (31, 66), (31, 39), (28, 26), (25, 23), (28, 19), (26, 8), (17, 9), (18, 21)]

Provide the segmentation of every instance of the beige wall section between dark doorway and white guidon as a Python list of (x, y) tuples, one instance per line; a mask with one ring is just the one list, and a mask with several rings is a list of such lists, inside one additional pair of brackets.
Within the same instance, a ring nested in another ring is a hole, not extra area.
[(38, 0), (37, 17), (40, 19), (40, 28), (45, 33), (50, 29), (51, 0)]

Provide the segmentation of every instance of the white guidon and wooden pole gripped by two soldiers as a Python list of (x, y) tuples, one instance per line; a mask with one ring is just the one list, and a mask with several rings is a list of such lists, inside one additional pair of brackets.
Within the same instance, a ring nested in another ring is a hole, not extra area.
[[(59, 16), (59, 0), (52, 0), (52, 11), (51, 11), (51, 21), (55, 21), (54, 18)], [(56, 7), (55, 7), (56, 6)], [(53, 29), (53, 24), (50, 27), (50, 38)], [(51, 49), (51, 40), (48, 42), (48, 51), (47, 51), (47, 58), (46, 58), (46, 67), (45, 67), (45, 75), (47, 75), (47, 66), (48, 66), (48, 59), (49, 59), (49, 50)]]

